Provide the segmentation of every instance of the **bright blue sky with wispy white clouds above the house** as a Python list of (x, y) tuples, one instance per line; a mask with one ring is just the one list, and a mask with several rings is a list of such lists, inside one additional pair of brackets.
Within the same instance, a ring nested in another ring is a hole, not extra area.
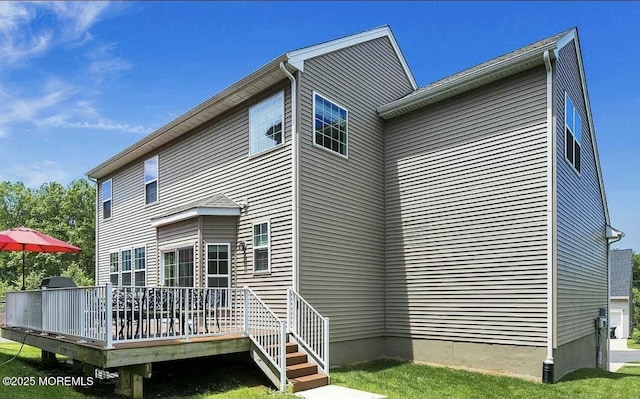
[(0, 181), (67, 184), (274, 57), (391, 26), (420, 86), (578, 26), (616, 246), (640, 251), (640, 3), (0, 2)]

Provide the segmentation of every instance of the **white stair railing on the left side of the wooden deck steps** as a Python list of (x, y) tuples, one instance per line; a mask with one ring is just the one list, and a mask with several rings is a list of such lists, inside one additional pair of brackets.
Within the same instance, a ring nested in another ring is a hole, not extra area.
[[(258, 309), (251, 309), (251, 299), (255, 300)], [(261, 314), (258, 314), (260, 312)], [(252, 318), (253, 316), (253, 318)], [(254, 321), (256, 323), (254, 323)], [(276, 327), (277, 326), (277, 327)], [(275, 330), (274, 327), (277, 329)], [(265, 335), (265, 331), (272, 330)], [(260, 331), (262, 335), (254, 334)], [(244, 332), (256, 348), (279, 370), (280, 391), (287, 390), (287, 322), (278, 316), (249, 287), (244, 287)], [(267, 344), (269, 343), (269, 344)], [(275, 345), (274, 345), (275, 344)], [(274, 350), (274, 346), (277, 350)]]

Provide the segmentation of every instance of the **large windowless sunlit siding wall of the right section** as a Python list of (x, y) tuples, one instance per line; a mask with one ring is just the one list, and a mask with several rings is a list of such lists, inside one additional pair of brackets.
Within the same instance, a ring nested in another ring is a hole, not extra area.
[(545, 79), (387, 122), (387, 336), (545, 344)]

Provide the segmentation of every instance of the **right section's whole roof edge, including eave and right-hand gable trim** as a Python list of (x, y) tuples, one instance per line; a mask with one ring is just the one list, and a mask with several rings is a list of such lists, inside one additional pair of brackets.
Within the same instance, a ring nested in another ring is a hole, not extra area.
[[(418, 108), (443, 101), (469, 90), (473, 90), (477, 87), (487, 85), (518, 72), (542, 65), (544, 63), (543, 54), (545, 51), (549, 51), (549, 55), (553, 59), (560, 49), (572, 41), (575, 42), (576, 46), (578, 70), (580, 72), (580, 81), (582, 83), (582, 93), (584, 95), (584, 103), (587, 109), (587, 121), (589, 122), (590, 131), (594, 133), (595, 129), (593, 126), (591, 103), (589, 101), (587, 82), (584, 75), (584, 65), (582, 62), (582, 52), (580, 50), (577, 28), (572, 28), (562, 33), (558, 33), (557, 35), (542, 39), (529, 46), (512, 51), (475, 67), (465, 69), (462, 72), (433, 82), (398, 100), (380, 106), (378, 108), (378, 115), (383, 119), (393, 118)], [(600, 185), (600, 196), (602, 198), (604, 208), (605, 223), (609, 226), (611, 224), (609, 219), (609, 207), (607, 205), (607, 197), (604, 191), (604, 180), (602, 179), (598, 144), (596, 142), (595, 133), (590, 136), (595, 155), (595, 167), (598, 176), (598, 183)]]

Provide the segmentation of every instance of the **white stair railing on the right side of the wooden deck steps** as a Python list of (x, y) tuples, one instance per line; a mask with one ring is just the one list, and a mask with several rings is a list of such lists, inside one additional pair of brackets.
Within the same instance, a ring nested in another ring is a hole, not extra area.
[(291, 288), (287, 289), (287, 326), (289, 333), (329, 375), (329, 318)]

